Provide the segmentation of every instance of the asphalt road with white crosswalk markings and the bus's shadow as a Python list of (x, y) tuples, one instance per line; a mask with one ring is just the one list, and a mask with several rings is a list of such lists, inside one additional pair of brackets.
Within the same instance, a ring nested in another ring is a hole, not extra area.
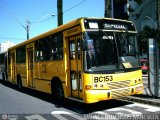
[(46, 93), (0, 83), (0, 120), (160, 119), (160, 107), (123, 100), (83, 104), (65, 100), (58, 104)]

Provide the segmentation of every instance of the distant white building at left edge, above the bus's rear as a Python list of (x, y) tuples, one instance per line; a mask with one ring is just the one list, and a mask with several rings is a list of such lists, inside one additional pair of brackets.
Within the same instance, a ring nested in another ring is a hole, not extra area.
[(0, 43), (0, 52), (7, 51), (9, 47), (14, 46), (15, 44), (11, 41), (6, 41), (4, 43)]

